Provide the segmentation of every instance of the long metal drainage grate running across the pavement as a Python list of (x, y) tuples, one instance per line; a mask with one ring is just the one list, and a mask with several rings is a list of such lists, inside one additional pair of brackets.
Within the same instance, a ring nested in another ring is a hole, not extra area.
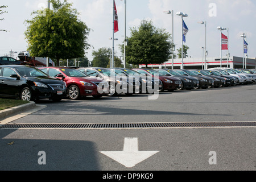
[(256, 122), (191, 123), (9, 123), (0, 129), (147, 129), (177, 127), (256, 127)]

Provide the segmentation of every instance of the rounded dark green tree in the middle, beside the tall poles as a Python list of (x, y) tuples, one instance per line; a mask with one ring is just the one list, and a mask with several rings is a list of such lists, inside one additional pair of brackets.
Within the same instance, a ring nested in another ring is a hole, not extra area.
[(131, 37), (126, 47), (127, 63), (161, 64), (171, 55), (171, 35), (164, 29), (156, 28), (151, 21), (142, 20), (140, 27), (131, 28)]

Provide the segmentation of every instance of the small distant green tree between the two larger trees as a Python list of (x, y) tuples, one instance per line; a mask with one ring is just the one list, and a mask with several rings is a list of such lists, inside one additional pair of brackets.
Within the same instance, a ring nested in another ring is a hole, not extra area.
[(109, 51), (110, 48), (99, 48), (98, 51), (93, 51), (92, 66), (106, 68), (109, 64)]

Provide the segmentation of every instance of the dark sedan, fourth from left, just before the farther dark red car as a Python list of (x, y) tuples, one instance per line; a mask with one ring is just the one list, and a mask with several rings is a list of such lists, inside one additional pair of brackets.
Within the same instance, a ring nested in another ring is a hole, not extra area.
[(132, 77), (132, 78), (135, 78), (136, 80), (139, 80), (141, 84), (141, 93), (153, 93), (154, 91), (159, 92), (163, 88), (162, 81), (152, 76), (142, 75), (139, 72), (136, 72), (132, 69), (127, 69), (127, 68), (109, 68), (109, 69), (114, 71), (117, 75), (125, 74), (127, 77)]

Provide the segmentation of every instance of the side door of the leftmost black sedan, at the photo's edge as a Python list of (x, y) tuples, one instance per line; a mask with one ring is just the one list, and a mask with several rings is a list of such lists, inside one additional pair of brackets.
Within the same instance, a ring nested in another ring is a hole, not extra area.
[(20, 78), (11, 77), (11, 75), (18, 75), (11, 68), (1, 69), (1, 94), (5, 96), (18, 96), (20, 91)]

